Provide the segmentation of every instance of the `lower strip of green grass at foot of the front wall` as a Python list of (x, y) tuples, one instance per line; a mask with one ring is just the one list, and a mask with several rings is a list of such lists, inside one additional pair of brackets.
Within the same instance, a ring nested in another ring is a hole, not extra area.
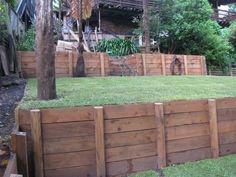
[(176, 165), (161, 171), (162, 175), (159, 175), (160, 172), (148, 171), (129, 177), (235, 177), (236, 155)]

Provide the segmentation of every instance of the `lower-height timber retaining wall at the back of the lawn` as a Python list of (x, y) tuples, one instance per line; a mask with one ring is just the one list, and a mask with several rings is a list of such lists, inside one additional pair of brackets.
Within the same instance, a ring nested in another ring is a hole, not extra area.
[[(18, 52), (24, 77), (35, 77), (35, 53)], [(105, 53), (84, 53), (85, 72), (87, 76), (109, 75), (171, 75), (170, 63), (174, 55), (134, 54), (123, 57), (123, 60), (109, 59)], [(206, 75), (204, 56), (177, 55), (182, 64), (182, 75)], [(73, 76), (77, 61), (76, 52), (56, 53), (57, 77)]]

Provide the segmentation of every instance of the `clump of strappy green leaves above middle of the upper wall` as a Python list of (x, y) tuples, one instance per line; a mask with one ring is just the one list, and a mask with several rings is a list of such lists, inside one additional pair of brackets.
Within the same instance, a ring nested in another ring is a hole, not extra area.
[(98, 42), (97, 50), (99, 52), (106, 52), (111, 56), (125, 56), (138, 52), (138, 48), (132, 40), (121, 38), (103, 39)]

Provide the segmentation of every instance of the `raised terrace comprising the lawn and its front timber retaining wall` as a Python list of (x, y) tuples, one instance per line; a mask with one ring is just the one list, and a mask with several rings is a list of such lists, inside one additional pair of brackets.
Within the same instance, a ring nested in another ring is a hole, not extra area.
[(46, 177), (122, 176), (236, 152), (236, 98), (221, 98), (235, 96), (234, 78), (66, 78), (57, 86), (58, 100), (36, 101), (30, 80), (17, 111), (26, 171), (33, 158)]

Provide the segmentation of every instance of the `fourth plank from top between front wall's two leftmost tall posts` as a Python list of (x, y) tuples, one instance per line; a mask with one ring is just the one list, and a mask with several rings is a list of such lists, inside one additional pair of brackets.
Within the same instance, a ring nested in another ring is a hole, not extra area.
[(79, 167), (86, 165), (95, 165), (96, 156), (95, 150), (93, 151), (82, 151), (72, 152), (64, 154), (48, 154), (44, 155), (44, 169), (60, 169)]

